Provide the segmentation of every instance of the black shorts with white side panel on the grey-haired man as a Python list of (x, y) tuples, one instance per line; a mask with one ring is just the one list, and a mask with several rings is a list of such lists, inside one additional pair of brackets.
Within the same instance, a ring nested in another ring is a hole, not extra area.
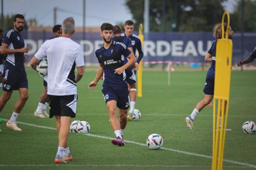
[(76, 117), (77, 95), (53, 96), (50, 98), (50, 118), (53, 116)]

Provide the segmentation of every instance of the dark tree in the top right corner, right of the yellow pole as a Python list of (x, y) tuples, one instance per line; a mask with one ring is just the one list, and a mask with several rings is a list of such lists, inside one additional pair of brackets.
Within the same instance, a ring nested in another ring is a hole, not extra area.
[[(244, 31), (255, 32), (256, 31), (256, 1), (247, 0), (244, 1)], [(241, 31), (242, 24), (242, 0), (239, 0), (236, 4), (235, 11), (230, 14), (231, 27), (235, 31)]]

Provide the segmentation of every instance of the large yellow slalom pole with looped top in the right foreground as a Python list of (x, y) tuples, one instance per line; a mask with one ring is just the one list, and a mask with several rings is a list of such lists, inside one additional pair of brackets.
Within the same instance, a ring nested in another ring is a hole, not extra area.
[[(227, 15), (227, 31), (224, 32), (224, 19)], [(229, 92), (232, 61), (232, 41), (228, 39), (229, 14), (227, 11), (222, 16), (222, 37), (217, 41), (215, 61), (215, 81), (213, 96), (213, 153), (212, 170), (222, 170), (223, 154), (226, 140), (226, 129), (229, 111)], [(216, 101), (218, 109), (216, 115)], [(221, 122), (220, 122), (221, 116)], [(216, 121), (217, 118), (217, 121)], [(217, 122), (217, 123), (216, 123)], [(220, 124), (220, 129), (219, 129)], [(215, 131), (216, 130), (216, 131)]]

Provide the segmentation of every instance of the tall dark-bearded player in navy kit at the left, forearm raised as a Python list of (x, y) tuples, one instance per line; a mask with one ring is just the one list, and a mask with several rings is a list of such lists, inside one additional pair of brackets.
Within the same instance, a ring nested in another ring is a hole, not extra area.
[(3, 86), (3, 94), (0, 98), (0, 112), (7, 101), (11, 98), (13, 90), (19, 90), (20, 98), (14, 105), (14, 111), (10, 120), (6, 123), (8, 128), (14, 131), (21, 131), (17, 126), (17, 117), (28, 99), (28, 79), (24, 67), (25, 56), (28, 53), (28, 47), (25, 47), (21, 31), (24, 27), (24, 16), (17, 14), (14, 16), (14, 28), (6, 33), (1, 54), (7, 54), (4, 64), (4, 78), (7, 83)]

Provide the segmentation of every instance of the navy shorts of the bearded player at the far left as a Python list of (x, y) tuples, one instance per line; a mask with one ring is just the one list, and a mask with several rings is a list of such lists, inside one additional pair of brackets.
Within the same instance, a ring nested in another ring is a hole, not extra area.
[(3, 91), (18, 90), (28, 88), (28, 79), (26, 71), (17, 71), (13, 69), (4, 69), (4, 78), (7, 84), (4, 84)]

